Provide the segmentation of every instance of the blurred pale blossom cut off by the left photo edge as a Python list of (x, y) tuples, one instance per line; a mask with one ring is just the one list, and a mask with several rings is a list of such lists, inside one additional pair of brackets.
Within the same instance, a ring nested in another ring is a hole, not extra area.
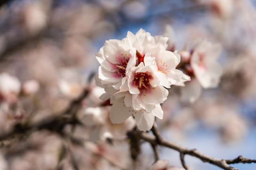
[(0, 74), (0, 101), (1, 98), (7, 101), (16, 101), (20, 93), (20, 81), (7, 73)]

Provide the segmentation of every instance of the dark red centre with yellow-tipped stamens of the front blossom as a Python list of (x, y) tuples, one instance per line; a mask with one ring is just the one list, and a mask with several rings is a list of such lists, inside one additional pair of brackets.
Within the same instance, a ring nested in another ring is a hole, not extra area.
[(146, 91), (147, 94), (147, 92), (150, 90), (151, 85), (149, 84), (149, 81), (152, 79), (153, 76), (148, 72), (135, 73), (133, 85), (139, 89), (140, 96), (143, 94), (144, 91)]

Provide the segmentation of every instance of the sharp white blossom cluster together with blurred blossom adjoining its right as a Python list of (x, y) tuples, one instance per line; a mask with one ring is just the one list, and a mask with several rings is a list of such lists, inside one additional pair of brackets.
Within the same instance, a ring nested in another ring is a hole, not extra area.
[[(165, 34), (172, 34), (171, 30), (168, 26)], [(200, 40), (188, 51), (178, 53), (174, 49), (173, 39), (153, 37), (143, 29), (135, 35), (128, 31), (122, 40), (105, 42), (96, 53), (101, 66), (95, 79), (106, 92), (100, 98), (110, 98), (113, 104), (112, 123), (119, 124), (133, 116), (137, 127), (148, 131), (155, 117), (163, 119), (160, 104), (167, 99), (171, 85), (186, 85), (181, 94), (191, 102), (199, 97), (201, 86), (218, 85), (221, 66), (216, 59), (220, 45)]]

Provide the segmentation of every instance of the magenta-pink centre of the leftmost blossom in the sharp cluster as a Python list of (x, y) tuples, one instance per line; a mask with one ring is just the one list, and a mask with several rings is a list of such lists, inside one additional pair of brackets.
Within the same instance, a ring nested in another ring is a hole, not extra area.
[(121, 56), (116, 57), (116, 60), (118, 61), (118, 63), (113, 64), (113, 67), (116, 70), (117, 74), (121, 75), (122, 77), (125, 76), (125, 70), (130, 58), (131, 58), (131, 55), (127, 56), (126, 54), (121, 54)]

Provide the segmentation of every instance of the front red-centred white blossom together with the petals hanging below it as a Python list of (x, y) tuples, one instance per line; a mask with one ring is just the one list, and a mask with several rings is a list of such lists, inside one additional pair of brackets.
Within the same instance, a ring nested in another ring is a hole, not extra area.
[[(132, 61), (136, 62), (134, 57), (130, 63)], [(133, 115), (138, 128), (148, 131), (154, 124), (155, 116), (163, 118), (159, 103), (167, 99), (168, 90), (160, 84), (163, 78), (156, 76), (158, 69), (150, 53), (146, 53), (144, 63), (131, 67), (126, 73), (129, 91), (121, 91), (111, 97), (113, 106), (110, 120), (112, 123), (121, 123)]]

